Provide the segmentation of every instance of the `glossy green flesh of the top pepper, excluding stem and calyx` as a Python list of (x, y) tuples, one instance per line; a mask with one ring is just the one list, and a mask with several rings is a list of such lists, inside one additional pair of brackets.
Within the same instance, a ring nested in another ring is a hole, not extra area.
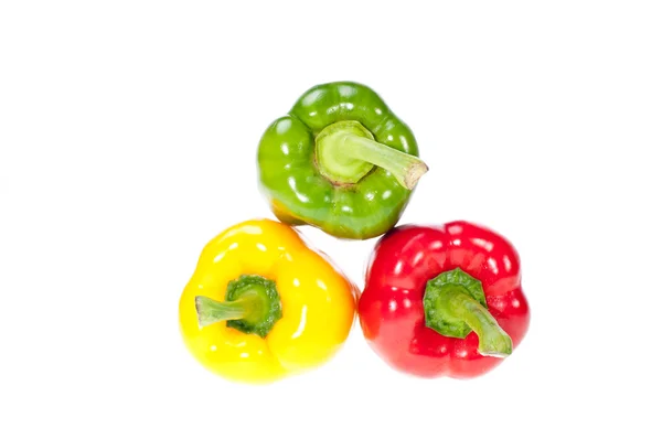
[(320, 174), (314, 138), (343, 120), (357, 121), (376, 141), (418, 156), (410, 129), (374, 92), (353, 83), (321, 85), (263, 135), (257, 157), (261, 190), (286, 223), (311, 224), (339, 237), (378, 236), (397, 223), (412, 191), (381, 168), (348, 185), (334, 185)]

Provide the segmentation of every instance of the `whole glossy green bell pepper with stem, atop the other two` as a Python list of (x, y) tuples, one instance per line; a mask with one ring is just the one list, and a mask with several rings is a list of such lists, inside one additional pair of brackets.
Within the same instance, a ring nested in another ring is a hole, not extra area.
[(427, 165), (412, 130), (371, 88), (349, 82), (306, 92), (264, 132), (257, 163), (271, 211), (349, 239), (399, 220)]

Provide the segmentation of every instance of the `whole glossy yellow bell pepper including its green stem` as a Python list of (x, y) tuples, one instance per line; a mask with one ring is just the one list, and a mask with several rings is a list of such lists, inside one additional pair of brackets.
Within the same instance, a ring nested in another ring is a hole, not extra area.
[(350, 332), (356, 292), (290, 226), (248, 221), (202, 250), (181, 295), (180, 328), (207, 370), (271, 383), (334, 355)]

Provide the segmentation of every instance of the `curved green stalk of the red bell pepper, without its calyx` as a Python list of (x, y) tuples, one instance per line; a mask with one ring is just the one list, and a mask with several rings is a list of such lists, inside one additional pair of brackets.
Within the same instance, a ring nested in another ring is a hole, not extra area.
[(501, 329), (490, 312), (469, 295), (448, 292), (449, 310), (465, 321), (478, 335), (478, 352), (481, 355), (504, 357), (513, 352), (511, 338)]

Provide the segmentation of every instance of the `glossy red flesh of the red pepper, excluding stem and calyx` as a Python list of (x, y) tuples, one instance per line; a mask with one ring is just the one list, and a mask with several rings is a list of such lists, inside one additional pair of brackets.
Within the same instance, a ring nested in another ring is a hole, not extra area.
[(427, 281), (458, 267), (481, 281), (489, 312), (513, 346), (523, 339), (530, 312), (520, 286), (520, 260), (510, 243), (466, 222), (438, 228), (402, 226), (380, 239), (359, 300), (365, 338), (394, 368), (426, 377), (470, 377), (502, 362), (478, 353), (474, 332), (453, 339), (426, 326)]

